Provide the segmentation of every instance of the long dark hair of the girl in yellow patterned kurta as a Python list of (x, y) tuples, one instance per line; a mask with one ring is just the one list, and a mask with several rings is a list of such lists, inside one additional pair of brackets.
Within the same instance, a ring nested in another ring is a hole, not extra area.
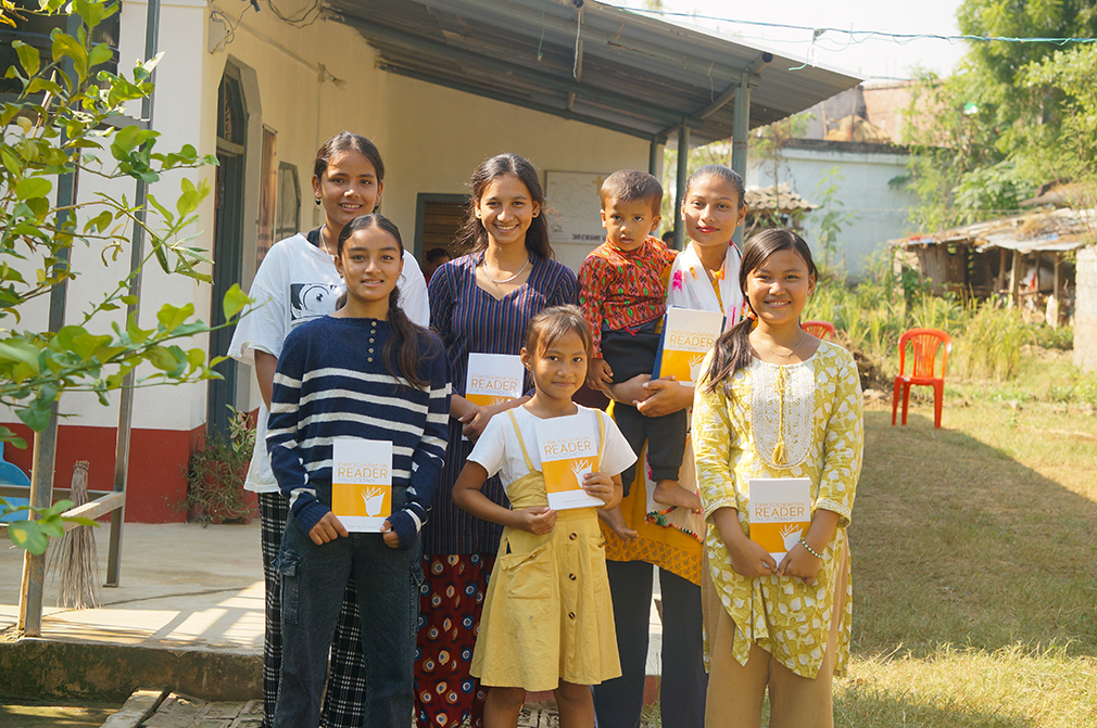
[(739, 288), (743, 291), (743, 299), (750, 308), (753, 316), (745, 316), (716, 339), (716, 344), (712, 352), (712, 363), (705, 372), (705, 391), (715, 391), (716, 387), (724, 386), (725, 394), (731, 394), (728, 379), (736, 369), (744, 368), (750, 363), (750, 330), (754, 328), (755, 314), (750, 307), (750, 298), (747, 296), (747, 277), (762, 265), (773, 253), (781, 250), (792, 250), (804, 259), (808, 274), (818, 278), (818, 271), (815, 269), (815, 261), (812, 260), (811, 248), (804, 239), (792, 230), (784, 228), (770, 228), (762, 230), (750, 237), (743, 248), (743, 265), (739, 266)]

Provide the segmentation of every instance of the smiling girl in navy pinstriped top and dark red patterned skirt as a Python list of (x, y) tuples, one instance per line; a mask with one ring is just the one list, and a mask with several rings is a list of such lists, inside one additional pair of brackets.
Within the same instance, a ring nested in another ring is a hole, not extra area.
[[(454, 394), (450, 446), (423, 530), (427, 583), (416, 660), (420, 728), (454, 728), (464, 720), (475, 728), (483, 716), (484, 691), (468, 670), (501, 527), (461, 511), (450, 496), (488, 421), (527, 401), (477, 406), (465, 399), (468, 354), (519, 354), (530, 319), (578, 298), (575, 274), (553, 260), (544, 201), (538, 172), (525, 159), (504, 153), (480, 163), (459, 241), (472, 252), (430, 278), (430, 323), (445, 344)], [(529, 377), (525, 391), (532, 393)], [(484, 493), (507, 502), (497, 477)]]

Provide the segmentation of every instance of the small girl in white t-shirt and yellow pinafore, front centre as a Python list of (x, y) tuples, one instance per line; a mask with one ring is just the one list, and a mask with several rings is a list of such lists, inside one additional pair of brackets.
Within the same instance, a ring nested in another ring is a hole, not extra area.
[[(611, 418), (572, 401), (587, 376), (590, 343), (575, 306), (530, 321), (521, 357), (536, 391), (491, 418), (453, 488), (457, 505), (504, 526), (472, 662), (472, 674), (488, 686), (485, 728), (512, 728), (525, 691), (545, 690), (556, 693), (563, 728), (592, 728), (590, 685), (621, 674), (598, 517), (593, 508), (548, 508), (536, 436), (538, 420), (590, 418), (599, 471), (587, 474), (583, 488), (602, 510), (620, 504), (620, 473), (636, 456)], [(480, 492), (496, 473), (511, 509)]]

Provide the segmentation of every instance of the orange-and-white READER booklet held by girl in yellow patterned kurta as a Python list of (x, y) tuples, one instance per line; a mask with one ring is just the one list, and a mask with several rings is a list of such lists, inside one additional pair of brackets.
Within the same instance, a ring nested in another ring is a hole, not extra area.
[(778, 564), (811, 524), (811, 478), (750, 478), (750, 541)]

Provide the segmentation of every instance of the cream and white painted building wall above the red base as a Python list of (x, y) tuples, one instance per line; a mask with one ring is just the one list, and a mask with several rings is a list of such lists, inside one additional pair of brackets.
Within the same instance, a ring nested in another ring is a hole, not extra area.
[[(168, 0), (161, 5), (160, 50), (154, 126), (161, 136), (158, 151), (193, 145), (200, 153), (216, 153), (217, 91), (226, 65), (240, 69), (249, 114), (244, 202), (244, 265), (241, 287), (255, 276), (259, 216), (262, 129), (278, 135), (276, 162), (297, 168), (302, 193), (301, 227), (323, 221), (313, 204), (313, 161), (319, 144), (343, 129), (372, 138), (381, 149), (386, 177), (384, 213), (400, 228), (408, 246), (415, 239), (419, 193), (466, 194), (473, 169), (485, 158), (513, 151), (529, 158), (544, 182), (546, 170), (609, 173), (625, 167), (646, 169), (648, 143), (557, 116), (542, 114), (460, 91), (394, 76), (376, 68), (376, 55), (352, 29), (319, 20), (306, 27), (291, 26), (272, 12), (248, 10), (224, 0)], [(292, 7), (284, 9), (291, 12)], [(126, 0), (122, 11), (120, 71), (129, 76), (144, 57), (146, 3)], [(239, 25), (224, 41), (225, 22)], [(132, 104), (132, 116), (140, 115)], [(109, 156), (109, 152), (108, 152)], [(173, 172), (151, 185), (160, 204), (174, 208), (180, 179), (205, 180), (211, 186), (215, 168)], [(103, 185), (90, 175), (81, 180), (80, 197), (97, 192), (133, 198), (129, 182)], [(199, 211), (188, 244), (213, 249), (214, 194)], [(586, 249), (561, 250), (577, 266)], [(88, 302), (123, 278), (129, 252), (103, 268), (99, 251), (76, 250), (75, 264), (84, 274), (69, 289), (68, 320), (78, 320)], [(206, 266), (206, 272), (210, 266)], [(211, 286), (179, 275), (167, 275), (155, 263), (145, 271), (140, 321), (156, 326), (156, 312), (171, 303), (192, 303), (196, 316), (211, 319)], [(219, 303), (217, 303), (219, 305)], [(25, 323), (45, 327), (47, 304), (29, 311)], [(115, 317), (120, 322), (124, 316)], [(108, 326), (110, 319), (104, 319)], [(184, 349), (206, 349), (206, 337), (179, 342)], [(151, 371), (146, 372), (149, 374)], [(252, 409), (259, 401), (255, 377), (240, 369), (238, 405)], [(116, 403), (116, 398), (113, 399)], [(63, 410), (76, 414), (68, 424), (113, 428), (117, 408), (102, 407), (88, 395), (69, 395)], [(206, 413), (206, 385), (142, 389), (135, 398), (134, 426), (192, 430)], [(5, 412), (0, 420), (14, 422)]]

